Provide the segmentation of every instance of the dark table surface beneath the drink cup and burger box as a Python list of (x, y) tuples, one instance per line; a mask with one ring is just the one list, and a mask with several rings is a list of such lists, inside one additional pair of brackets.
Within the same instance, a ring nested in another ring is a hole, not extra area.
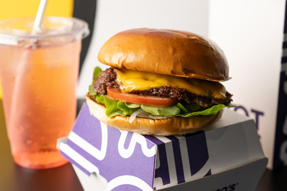
[[(83, 104), (78, 100), (78, 110)], [(46, 170), (32, 170), (13, 162), (0, 101), (0, 191), (83, 191), (71, 164)], [(256, 191), (287, 191), (287, 167), (268, 170)]]

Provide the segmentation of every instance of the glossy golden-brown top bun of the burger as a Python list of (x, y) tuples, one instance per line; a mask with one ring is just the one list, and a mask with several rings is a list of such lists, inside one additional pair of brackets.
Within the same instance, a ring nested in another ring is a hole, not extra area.
[(185, 31), (125, 30), (103, 45), (98, 59), (116, 68), (216, 82), (230, 79), (228, 62), (219, 46)]

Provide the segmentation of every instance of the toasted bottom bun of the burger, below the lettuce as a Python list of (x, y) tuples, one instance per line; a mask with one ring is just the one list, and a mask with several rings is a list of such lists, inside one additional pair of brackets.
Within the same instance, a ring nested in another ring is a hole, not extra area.
[(93, 98), (86, 94), (86, 103), (90, 113), (104, 122), (106, 125), (119, 130), (136, 132), (143, 135), (183, 135), (200, 131), (221, 118), (223, 109), (214, 115), (196, 115), (191, 117), (169, 117), (163, 119), (149, 119), (136, 117), (129, 122), (130, 116), (116, 115), (107, 117), (107, 108), (98, 104)]

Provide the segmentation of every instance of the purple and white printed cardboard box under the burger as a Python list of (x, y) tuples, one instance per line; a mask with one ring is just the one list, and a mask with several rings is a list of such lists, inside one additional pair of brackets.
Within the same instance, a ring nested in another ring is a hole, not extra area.
[(254, 191), (267, 164), (253, 119), (230, 109), (204, 131), (146, 136), (105, 125), (85, 103), (57, 146), (85, 191)]

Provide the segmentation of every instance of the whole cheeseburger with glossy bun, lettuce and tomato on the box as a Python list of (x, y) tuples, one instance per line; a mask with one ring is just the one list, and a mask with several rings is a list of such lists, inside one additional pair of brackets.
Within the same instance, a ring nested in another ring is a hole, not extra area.
[(223, 51), (200, 35), (138, 28), (111, 37), (94, 70), (86, 102), (93, 116), (144, 135), (193, 133), (216, 122), (231, 94)]

